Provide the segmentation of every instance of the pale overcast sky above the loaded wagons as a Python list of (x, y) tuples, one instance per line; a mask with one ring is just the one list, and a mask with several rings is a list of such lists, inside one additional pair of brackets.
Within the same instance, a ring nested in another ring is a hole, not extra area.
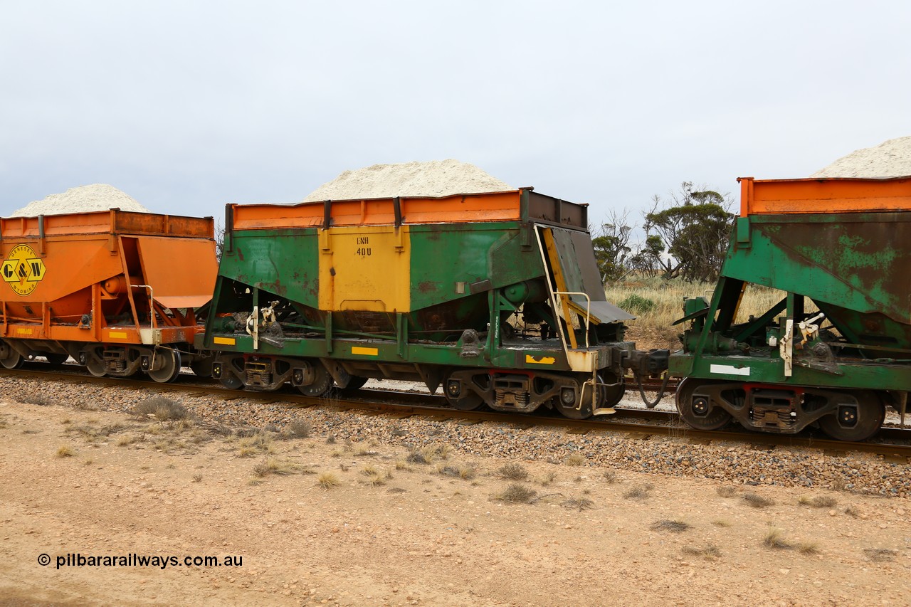
[[(0, 214), (300, 201), (455, 158), (639, 210), (911, 135), (911, 3), (0, 0)], [(634, 211), (638, 212), (638, 211)], [(635, 218), (634, 218), (635, 219)]]

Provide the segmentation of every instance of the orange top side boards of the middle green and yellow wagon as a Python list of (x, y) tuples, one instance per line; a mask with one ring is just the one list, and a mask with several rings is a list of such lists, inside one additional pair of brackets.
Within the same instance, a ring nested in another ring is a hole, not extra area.
[[(399, 199), (404, 223), (460, 223), (473, 221), (518, 221), (521, 190), (480, 194), (458, 194), (440, 198)], [(235, 204), (235, 230), (264, 230), (322, 226), (324, 202), (293, 205)], [(392, 225), (394, 199), (376, 198), (357, 201), (332, 201), (333, 226)]]

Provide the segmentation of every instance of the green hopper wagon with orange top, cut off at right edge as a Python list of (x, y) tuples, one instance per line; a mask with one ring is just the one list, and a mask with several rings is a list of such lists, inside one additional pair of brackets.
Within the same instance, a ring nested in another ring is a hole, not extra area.
[[(692, 427), (864, 440), (911, 388), (911, 179), (742, 180), (711, 301), (684, 302), (670, 372)], [(739, 317), (748, 289), (777, 289)]]

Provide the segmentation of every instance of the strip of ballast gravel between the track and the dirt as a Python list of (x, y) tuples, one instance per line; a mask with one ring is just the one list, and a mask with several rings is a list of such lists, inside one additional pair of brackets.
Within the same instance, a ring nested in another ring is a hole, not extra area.
[[(554, 464), (581, 455), (585, 468), (620, 469), (674, 477), (710, 478), (741, 485), (844, 489), (898, 498), (911, 495), (911, 467), (865, 453), (828, 455), (820, 449), (752, 448), (746, 443), (691, 443), (682, 437), (642, 439), (609, 431), (571, 434), (555, 427), (507, 423), (466, 424), (432, 417), (369, 415), (334, 407), (295, 407), (281, 394), (225, 399), (169, 390), (92, 386), (69, 382), (0, 377), (0, 389), (14, 401), (43, 397), (51, 405), (127, 413), (150, 396), (166, 396), (197, 417), (200, 424), (264, 428), (280, 432), (294, 420), (312, 424), (312, 436), (336, 441), (367, 441), (385, 448), (449, 445), (461, 457), (528, 459)], [(580, 471), (583, 468), (580, 468)]]

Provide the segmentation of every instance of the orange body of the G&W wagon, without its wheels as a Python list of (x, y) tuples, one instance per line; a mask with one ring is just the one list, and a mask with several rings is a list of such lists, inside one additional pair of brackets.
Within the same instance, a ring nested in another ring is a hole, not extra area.
[[(211, 218), (154, 213), (3, 218), (0, 255), (0, 336), (10, 338), (137, 344), (138, 330), (154, 324), (162, 343), (192, 342), (203, 330), (194, 314), (164, 308), (206, 304), (218, 274)], [(152, 287), (151, 320), (148, 289), (138, 284)], [(87, 314), (91, 328), (79, 328)]]

